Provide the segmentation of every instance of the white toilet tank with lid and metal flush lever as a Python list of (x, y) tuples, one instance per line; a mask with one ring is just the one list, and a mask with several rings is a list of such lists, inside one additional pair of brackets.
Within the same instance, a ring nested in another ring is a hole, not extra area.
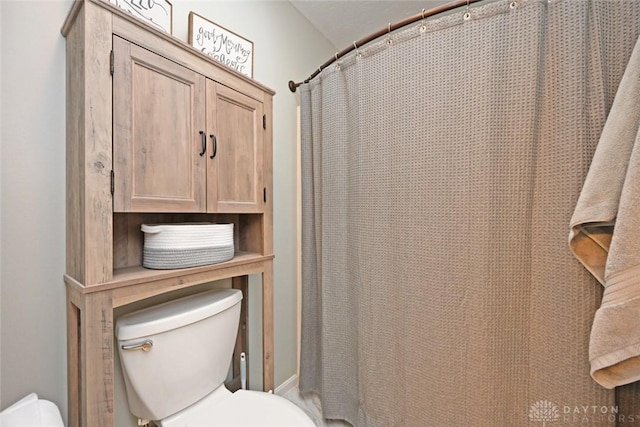
[(161, 420), (224, 383), (242, 292), (202, 292), (121, 316), (118, 352), (131, 413)]

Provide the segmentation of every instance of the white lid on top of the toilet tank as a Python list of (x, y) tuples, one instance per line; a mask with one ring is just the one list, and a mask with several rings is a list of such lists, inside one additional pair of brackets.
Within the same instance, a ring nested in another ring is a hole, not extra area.
[(131, 340), (167, 332), (214, 316), (242, 300), (238, 289), (216, 289), (125, 314), (116, 321), (116, 337)]

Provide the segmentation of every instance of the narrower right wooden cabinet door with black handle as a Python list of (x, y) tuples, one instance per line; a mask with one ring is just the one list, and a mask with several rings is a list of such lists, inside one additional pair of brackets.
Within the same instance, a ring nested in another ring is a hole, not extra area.
[(262, 114), (261, 102), (207, 80), (207, 129), (212, 142), (207, 169), (209, 212), (263, 211)]

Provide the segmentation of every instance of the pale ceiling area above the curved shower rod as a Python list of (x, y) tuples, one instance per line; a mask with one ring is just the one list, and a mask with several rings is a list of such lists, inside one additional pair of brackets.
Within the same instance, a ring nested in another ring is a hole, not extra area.
[(413, 15), (452, 0), (290, 0), (336, 51)]

